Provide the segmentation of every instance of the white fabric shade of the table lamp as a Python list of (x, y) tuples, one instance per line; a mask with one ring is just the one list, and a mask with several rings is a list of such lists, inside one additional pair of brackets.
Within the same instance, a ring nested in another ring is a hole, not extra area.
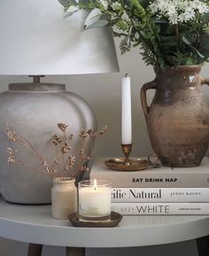
[(85, 15), (64, 19), (58, 0), (1, 0), (0, 74), (119, 71), (112, 32), (81, 31)]

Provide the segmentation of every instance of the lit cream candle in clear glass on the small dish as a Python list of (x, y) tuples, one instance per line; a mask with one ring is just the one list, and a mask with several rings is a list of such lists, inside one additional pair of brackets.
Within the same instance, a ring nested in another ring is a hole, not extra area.
[(111, 184), (107, 181), (88, 180), (79, 182), (79, 220), (110, 221), (111, 192)]

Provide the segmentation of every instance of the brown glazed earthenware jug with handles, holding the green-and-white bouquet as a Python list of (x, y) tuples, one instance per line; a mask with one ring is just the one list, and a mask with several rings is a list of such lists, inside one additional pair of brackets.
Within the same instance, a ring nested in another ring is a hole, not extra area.
[[(209, 143), (209, 109), (200, 76), (201, 66), (155, 69), (154, 81), (143, 85), (141, 100), (151, 145), (163, 166), (196, 167)], [(156, 89), (151, 107), (146, 91)]]

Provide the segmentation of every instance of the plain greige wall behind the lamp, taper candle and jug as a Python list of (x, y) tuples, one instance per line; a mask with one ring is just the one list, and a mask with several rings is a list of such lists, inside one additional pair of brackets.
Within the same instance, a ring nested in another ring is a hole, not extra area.
[[(116, 42), (118, 46), (118, 42)], [(117, 50), (119, 47), (116, 47)], [(143, 83), (154, 78), (151, 66), (145, 66), (138, 49), (121, 56), (118, 50), (120, 73), (117, 74), (87, 74), (72, 76), (50, 76), (43, 81), (65, 83), (67, 89), (84, 97), (97, 114), (100, 127), (108, 124), (109, 132), (99, 143), (98, 156), (119, 156), (120, 151), (120, 79), (129, 74), (132, 81), (133, 108), (133, 154), (147, 156), (151, 152), (151, 144), (146, 131), (140, 102), (140, 89)], [(203, 67), (202, 76), (209, 77), (209, 65)], [(31, 80), (31, 79), (30, 79)], [(0, 91), (7, 89), (10, 82), (29, 81), (24, 76), (0, 76)], [(153, 90), (148, 93), (151, 101)], [(204, 86), (205, 98), (209, 105), (209, 89)]]

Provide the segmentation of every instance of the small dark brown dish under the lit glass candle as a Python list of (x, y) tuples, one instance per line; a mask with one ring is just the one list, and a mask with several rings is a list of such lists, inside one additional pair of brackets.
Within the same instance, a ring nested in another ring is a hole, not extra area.
[(122, 220), (122, 215), (120, 213), (111, 212), (110, 221), (80, 221), (79, 213), (71, 213), (68, 216), (69, 221), (71, 221), (74, 227), (82, 228), (113, 228), (118, 226)]

